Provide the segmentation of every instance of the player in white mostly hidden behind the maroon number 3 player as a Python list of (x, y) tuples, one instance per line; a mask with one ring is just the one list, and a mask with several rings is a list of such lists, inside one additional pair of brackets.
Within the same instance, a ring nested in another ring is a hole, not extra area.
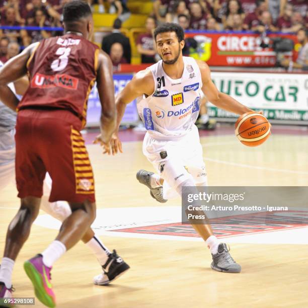
[[(3, 63), (0, 61), (0, 68), (2, 66)], [(27, 79), (21, 79), (14, 84), (9, 84), (8, 86), (15, 95), (16, 93), (23, 95), (28, 88), (28, 84)], [(0, 191), (9, 183), (13, 182), (15, 176), (15, 125), (16, 112), (0, 102)], [(41, 209), (54, 218), (63, 221), (70, 215), (70, 207), (64, 201), (49, 202), (48, 197), (50, 191), (51, 178), (47, 174), (44, 181), (44, 196), (42, 197)], [(94, 277), (93, 282), (95, 284), (107, 285), (124, 271), (129, 269), (129, 266), (116, 254), (115, 251), (111, 253), (108, 248), (104, 246), (92, 229), (88, 230), (82, 240), (95, 254), (103, 269), (101, 274)], [(4, 281), (8, 276), (11, 277), (11, 275), (6, 275), (6, 271), (10, 268), (10, 266), (7, 266), (6, 262), (9, 261), (11, 260), (2, 260), (2, 265), (0, 267), (0, 294), (2, 281)], [(7, 288), (10, 289), (12, 282), (6, 282)], [(3, 296), (0, 296), (0, 298), (1, 297)]]

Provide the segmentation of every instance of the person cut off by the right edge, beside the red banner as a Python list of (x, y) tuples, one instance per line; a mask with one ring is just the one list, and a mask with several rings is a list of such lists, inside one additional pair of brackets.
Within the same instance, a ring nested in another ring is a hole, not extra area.
[(289, 67), (290, 70), (293, 67), (308, 70), (308, 30), (298, 30), (297, 40), (301, 44), (301, 48), (298, 51), (296, 62), (289, 59), (284, 59), (281, 61), (281, 64), (285, 67)]

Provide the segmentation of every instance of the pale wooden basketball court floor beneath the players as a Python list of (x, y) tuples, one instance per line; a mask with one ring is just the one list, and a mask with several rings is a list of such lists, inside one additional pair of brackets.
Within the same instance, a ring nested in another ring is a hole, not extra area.
[[(135, 135), (132, 140), (142, 139), (142, 133)], [(211, 186), (308, 186), (305, 127), (274, 126), (271, 137), (256, 148), (240, 144), (231, 128), (204, 132), (201, 142)], [(226, 238), (232, 256), (242, 265), (240, 274), (211, 270), (210, 253), (199, 238), (130, 233), (136, 226), (165, 223), (164, 213), (177, 216), (181, 204), (180, 198), (156, 202), (136, 181), (137, 170), (152, 170), (141, 148), (141, 141), (124, 142), (124, 153), (108, 157), (101, 155), (99, 146), (88, 146), (96, 180), (95, 230), (131, 268), (111, 285), (96, 286), (92, 278), (100, 273), (100, 266), (79, 243), (52, 270), (58, 307), (308, 306), (307, 227)], [(10, 184), (1, 191), (1, 254), (18, 204), (15, 186)], [(47, 247), (58, 226), (41, 211), (15, 265), (15, 297), (34, 296), (23, 262)], [(43, 305), (36, 299), (35, 306)]]

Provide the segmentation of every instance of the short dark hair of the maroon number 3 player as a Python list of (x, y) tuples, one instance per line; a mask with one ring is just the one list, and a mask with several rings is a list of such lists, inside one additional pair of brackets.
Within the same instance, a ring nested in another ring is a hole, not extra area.
[(90, 6), (82, 0), (73, 0), (63, 7), (63, 22), (71, 23), (92, 15)]

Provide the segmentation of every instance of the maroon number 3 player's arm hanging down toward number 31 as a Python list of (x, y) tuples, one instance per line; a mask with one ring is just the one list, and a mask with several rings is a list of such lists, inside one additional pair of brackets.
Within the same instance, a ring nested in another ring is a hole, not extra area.
[(100, 50), (97, 70), (97, 90), (100, 96), (102, 112), (100, 118), (101, 134), (94, 143), (104, 146), (104, 153), (110, 154), (109, 142), (116, 126), (116, 108), (114, 102), (114, 85), (112, 63), (109, 56)]

